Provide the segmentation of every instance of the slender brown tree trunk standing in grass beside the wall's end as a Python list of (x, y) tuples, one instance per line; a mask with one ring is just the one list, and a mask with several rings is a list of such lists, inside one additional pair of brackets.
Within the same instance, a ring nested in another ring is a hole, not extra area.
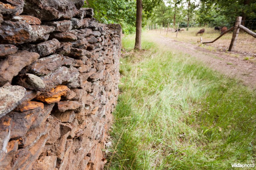
[(136, 37), (134, 49), (141, 50), (142, 0), (136, 0)]

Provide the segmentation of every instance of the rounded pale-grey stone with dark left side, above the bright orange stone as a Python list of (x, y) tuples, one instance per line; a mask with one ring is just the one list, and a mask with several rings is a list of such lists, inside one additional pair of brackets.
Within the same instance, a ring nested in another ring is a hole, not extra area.
[(21, 74), (17, 78), (17, 84), (30, 90), (40, 91), (45, 88), (45, 84), (40, 77), (34, 74)]

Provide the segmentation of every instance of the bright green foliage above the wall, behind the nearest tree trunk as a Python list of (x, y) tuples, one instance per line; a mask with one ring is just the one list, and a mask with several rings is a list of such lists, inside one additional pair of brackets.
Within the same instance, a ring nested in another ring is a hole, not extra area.
[[(161, 0), (143, 0), (142, 25), (151, 17)], [(94, 9), (95, 18), (105, 24), (121, 24), (123, 33), (135, 32), (136, 0), (87, 0), (84, 7)]]

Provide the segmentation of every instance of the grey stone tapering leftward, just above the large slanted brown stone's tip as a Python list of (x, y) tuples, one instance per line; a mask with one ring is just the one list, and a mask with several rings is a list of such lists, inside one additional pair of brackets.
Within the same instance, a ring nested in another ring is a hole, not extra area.
[(52, 54), (58, 48), (60, 48), (60, 42), (57, 39), (52, 39), (38, 44), (25, 44), (20, 46), (20, 49), (27, 50), (30, 52), (36, 52), (41, 57)]

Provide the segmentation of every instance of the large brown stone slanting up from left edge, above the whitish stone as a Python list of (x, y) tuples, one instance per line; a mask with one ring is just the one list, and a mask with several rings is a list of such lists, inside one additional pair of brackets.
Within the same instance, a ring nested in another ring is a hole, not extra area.
[(19, 71), (25, 66), (33, 63), (39, 54), (28, 51), (18, 51), (15, 54), (0, 58), (0, 86), (12, 81)]

